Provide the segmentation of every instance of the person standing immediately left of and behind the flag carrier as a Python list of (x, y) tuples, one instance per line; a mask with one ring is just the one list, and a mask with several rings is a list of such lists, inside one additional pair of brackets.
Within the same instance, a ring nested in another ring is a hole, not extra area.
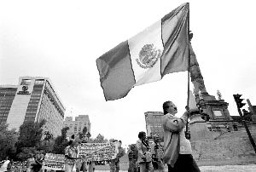
[[(155, 163), (156, 168), (158, 171), (163, 172), (165, 169), (163, 163), (163, 155), (164, 155), (164, 147), (160, 144), (159, 135), (153, 135), (153, 146), (152, 146), (152, 162)], [(154, 166), (153, 163), (153, 166)]]

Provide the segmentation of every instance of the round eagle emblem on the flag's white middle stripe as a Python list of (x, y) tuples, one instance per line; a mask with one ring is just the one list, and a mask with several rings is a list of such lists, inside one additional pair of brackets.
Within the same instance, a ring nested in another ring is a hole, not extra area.
[(143, 69), (151, 68), (161, 56), (161, 50), (156, 49), (154, 44), (146, 44), (139, 52), (139, 58), (136, 59), (137, 64)]

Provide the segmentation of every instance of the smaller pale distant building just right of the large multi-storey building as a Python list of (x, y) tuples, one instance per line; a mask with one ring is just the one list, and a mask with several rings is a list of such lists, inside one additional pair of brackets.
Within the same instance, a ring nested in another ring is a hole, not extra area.
[(71, 137), (71, 135), (79, 135), (79, 133), (83, 132), (84, 127), (87, 128), (87, 133), (90, 133), (90, 119), (88, 115), (79, 115), (79, 117), (75, 117), (73, 121), (72, 117), (66, 117), (64, 121), (64, 127), (68, 127), (67, 137)]

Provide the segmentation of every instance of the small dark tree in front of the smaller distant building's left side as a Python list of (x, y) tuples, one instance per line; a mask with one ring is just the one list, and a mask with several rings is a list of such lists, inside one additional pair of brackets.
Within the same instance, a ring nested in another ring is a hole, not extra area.
[(58, 136), (55, 139), (55, 144), (53, 146), (53, 153), (55, 154), (64, 154), (65, 153), (65, 148), (67, 146), (67, 130), (69, 128), (65, 127), (63, 129), (61, 129), (61, 136)]

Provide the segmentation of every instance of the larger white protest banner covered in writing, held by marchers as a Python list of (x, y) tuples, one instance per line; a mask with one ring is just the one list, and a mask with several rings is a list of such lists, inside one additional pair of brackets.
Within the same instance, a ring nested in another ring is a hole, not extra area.
[(116, 158), (118, 142), (108, 143), (81, 143), (79, 145), (79, 158), (84, 161), (108, 161)]

